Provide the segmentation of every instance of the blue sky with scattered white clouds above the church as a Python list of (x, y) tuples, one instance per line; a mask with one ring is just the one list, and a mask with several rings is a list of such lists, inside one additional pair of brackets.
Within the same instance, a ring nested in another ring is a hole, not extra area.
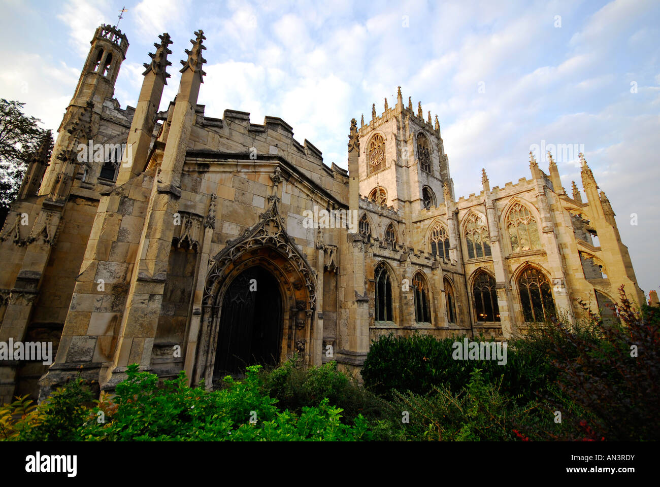
[[(119, 22), (129, 49), (115, 96), (135, 106), (143, 63), (169, 32), (172, 77), (203, 29), (206, 115), (281, 117), (326, 164), (347, 167), (350, 119), (384, 98), (438, 114), (457, 197), (530, 178), (529, 150), (577, 145), (611, 201), (645, 292), (660, 288), (660, 2), (0, 0), (0, 97), (57, 130), (90, 40)], [(561, 151), (560, 151), (561, 152)], [(578, 151), (553, 154), (581, 185)], [(537, 153), (547, 171), (545, 154)], [(584, 198), (584, 195), (583, 195)], [(633, 214), (635, 216), (633, 216)], [(636, 224), (634, 224), (636, 222)]]

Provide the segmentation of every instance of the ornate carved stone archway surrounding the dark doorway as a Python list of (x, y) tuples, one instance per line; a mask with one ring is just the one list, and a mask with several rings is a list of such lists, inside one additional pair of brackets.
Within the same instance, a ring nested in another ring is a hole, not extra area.
[(260, 220), (241, 236), (227, 242), (211, 263), (204, 288), (201, 339), (197, 348), (194, 383), (204, 378), (211, 385), (216, 356), (222, 300), (232, 280), (245, 269), (258, 265), (279, 282), (282, 297), (282, 348), (284, 358), (298, 352), (310, 362), (314, 327), (316, 281), (305, 256), (286, 234), (279, 212), (279, 198), (269, 197), (271, 206)]

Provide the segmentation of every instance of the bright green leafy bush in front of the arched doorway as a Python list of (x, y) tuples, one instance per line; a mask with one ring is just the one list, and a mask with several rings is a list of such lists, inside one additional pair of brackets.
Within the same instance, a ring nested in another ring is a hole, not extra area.
[[(261, 393), (259, 366), (246, 370), (242, 381), (225, 377), (220, 391), (187, 387), (185, 373), (158, 387), (158, 377), (129, 367), (128, 378), (117, 385), (112, 401), (102, 398), (81, 430), (84, 439), (110, 441), (301, 441), (370, 439), (362, 416), (348, 426), (342, 409), (319, 401), (300, 415), (281, 411)], [(97, 412), (106, 422), (99, 423)]]

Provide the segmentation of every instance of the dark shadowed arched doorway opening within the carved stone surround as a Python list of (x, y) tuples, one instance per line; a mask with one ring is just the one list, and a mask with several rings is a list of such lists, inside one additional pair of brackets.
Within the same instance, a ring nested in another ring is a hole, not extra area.
[(275, 276), (248, 267), (222, 298), (213, 379), (244, 372), (250, 365), (277, 365), (282, 342), (282, 296)]

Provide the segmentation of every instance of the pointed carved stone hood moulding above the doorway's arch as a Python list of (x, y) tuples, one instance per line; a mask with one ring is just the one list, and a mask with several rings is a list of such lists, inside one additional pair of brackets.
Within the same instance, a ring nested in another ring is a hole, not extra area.
[[(226, 247), (213, 257), (213, 267), (207, 276), (204, 288), (204, 304), (213, 301), (213, 288), (215, 282), (224, 276), (224, 271), (231, 263), (235, 262), (240, 255), (258, 247), (273, 247), (286, 258), (292, 270), (298, 271), (304, 282), (302, 286), (307, 288), (308, 300), (301, 301), (302, 309), (314, 309), (316, 302), (316, 287), (312, 267), (305, 256), (298, 251), (286, 230), (284, 230), (283, 218), (279, 212), (279, 198), (271, 200), (269, 209), (261, 214), (261, 220), (253, 227), (248, 228), (242, 235), (233, 240), (228, 240)], [(296, 302), (296, 306), (298, 302)]]

